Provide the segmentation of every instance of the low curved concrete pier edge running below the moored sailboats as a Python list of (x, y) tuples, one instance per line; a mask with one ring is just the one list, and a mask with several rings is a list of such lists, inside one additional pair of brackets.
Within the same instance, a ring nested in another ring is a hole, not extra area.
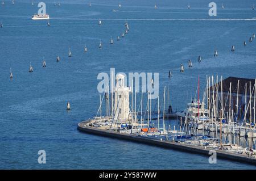
[[(90, 134), (97, 134), (100, 136), (108, 136), (113, 138), (118, 138), (120, 140), (129, 140), (134, 142), (141, 142), (143, 144), (148, 144), (151, 146), (160, 146), (164, 148), (170, 148), (180, 151), (186, 151), (189, 153), (197, 153), (210, 156), (209, 151), (215, 149), (204, 148), (204, 146), (194, 146), (194, 145), (187, 145), (179, 142), (174, 141), (160, 141), (160, 140), (152, 140), (147, 137), (137, 136), (135, 134), (126, 134), (126, 133), (119, 133), (115, 131), (110, 131), (108, 129), (101, 129), (101, 128), (94, 128), (90, 127), (89, 123), (92, 120), (82, 121), (78, 124), (77, 129), (81, 132), (86, 132)], [(229, 153), (224, 150), (215, 150), (217, 153), (217, 158), (224, 158), (230, 159), (237, 162), (244, 162), (249, 163), (252, 165), (256, 165), (256, 157), (244, 155), (244, 154), (237, 154), (237, 153)]]

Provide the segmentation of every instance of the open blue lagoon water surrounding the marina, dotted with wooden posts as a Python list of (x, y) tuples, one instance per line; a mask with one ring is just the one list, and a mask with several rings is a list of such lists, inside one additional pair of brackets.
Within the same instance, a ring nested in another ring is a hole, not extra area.
[[(38, 11), (38, 2), (34, 2), (35, 6), (31, 1), (16, 0), (15, 5), (5, 1), (0, 7), (0, 169), (256, 168), (223, 159), (209, 164), (202, 155), (77, 131), (77, 123), (96, 115), (100, 100), (97, 75), (109, 73), (110, 68), (159, 73), (160, 96), (168, 85), (170, 102), (177, 110), (183, 110), (195, 95), (198, 76), (201, 90), (207, 75), (255, 78), (256, 43), (249, 43), (256, 33), (253, 0), (215, 1), (216, 17), (208, 15), (211, 1), (204, 0), (93, 0), (92, 7), (89, 1), (62, 0), (61, 6), (44, 1), (50, 27), (44, 20), (31, 20)], [(125, 20), (130, 31), (117, 42)], [(114, 44), (110, 45), (112, 36)], [(98, 48), (100, 40), (102, 49)], [(236, 46), (234, 53), (232, 45)], [(68, 58), (69, 48), (72, 58)], [(199, 55), (203, 57), (200, 64), (196, 61)], [(60, 62), (56, 62), (57, 56)], [(188, 69), (189, 59), (192, 69)], [(28, 73), (30, 62), (33, 73)], [(183, 74), (179, 73), (181, 63)], [(65, 111), (68, 101), (70, 112)], [(38, 163), (38, 150), (42, 149), (46, 150), (46, 164)]]

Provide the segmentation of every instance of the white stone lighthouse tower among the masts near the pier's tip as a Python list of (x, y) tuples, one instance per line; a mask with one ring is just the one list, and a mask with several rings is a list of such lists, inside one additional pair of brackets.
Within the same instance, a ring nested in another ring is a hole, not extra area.
[(129, 87), (125, 86), (125, 75), (115, 77), (114, 119), (126, 122), (129, 120)]

